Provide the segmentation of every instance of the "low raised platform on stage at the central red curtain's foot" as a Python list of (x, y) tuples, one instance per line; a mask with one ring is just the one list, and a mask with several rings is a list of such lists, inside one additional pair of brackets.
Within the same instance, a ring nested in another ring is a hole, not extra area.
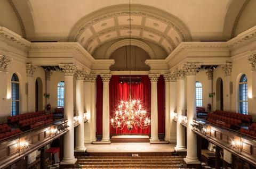
[(112, 136), (111, 142), (149, 142), (149, 136), (141, 135), (121, 135)]

